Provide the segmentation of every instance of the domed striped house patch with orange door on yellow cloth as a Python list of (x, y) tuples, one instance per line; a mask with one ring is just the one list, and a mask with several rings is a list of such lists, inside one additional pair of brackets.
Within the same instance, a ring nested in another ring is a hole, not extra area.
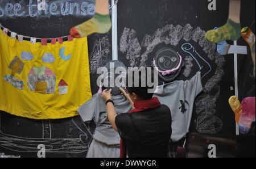
[(33, 67), (28, 74), (27, 86), (40, 94), (55, 93), (56, 75), (46, 66)]

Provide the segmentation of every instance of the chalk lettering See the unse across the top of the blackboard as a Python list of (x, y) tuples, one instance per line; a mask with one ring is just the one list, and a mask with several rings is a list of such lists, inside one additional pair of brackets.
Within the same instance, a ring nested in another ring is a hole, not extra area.
[(51, 17), (51, 16), (87, 16), (94, 15), (94, 1), (46, 1), (46, 10), (38, 10), (38, 2), (36, 0), (21, 0), (19, 3), (13, 0), (2, 0), (0, 2), (0, 19), (7, 18), (24, 18), (24, 17)]

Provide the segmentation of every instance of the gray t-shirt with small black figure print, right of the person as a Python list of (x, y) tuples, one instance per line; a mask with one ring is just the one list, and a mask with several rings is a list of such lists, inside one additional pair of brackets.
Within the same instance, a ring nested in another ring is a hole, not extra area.
[(156, 88), (154, 96), (171, 110), (173, 142), (179, 141), (188, 133), (193, 103), (202, 90), (200, 72), (189, 81), (175, 81)]

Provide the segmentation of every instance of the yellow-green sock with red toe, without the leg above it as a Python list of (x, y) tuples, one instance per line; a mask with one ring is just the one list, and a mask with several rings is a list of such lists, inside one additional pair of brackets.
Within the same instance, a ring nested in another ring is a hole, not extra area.
[(92, 35), (93, 33), (107, 33), (110, 28), (111, 20), (109, 14), (102, 15), (96, 12), (92, 19), (80, 24), (79, 26), (71, 28), (70, 34), (73, 37), (80, 38)]

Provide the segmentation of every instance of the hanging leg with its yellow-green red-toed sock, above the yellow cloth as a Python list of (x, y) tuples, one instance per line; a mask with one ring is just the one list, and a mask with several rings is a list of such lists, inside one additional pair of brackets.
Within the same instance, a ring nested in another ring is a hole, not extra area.
[(93, 33), (107, 33), (111, 28), (111, 20), (109, 16), (109, 0), (96, 0), (95, 16), (71, 28), (70, 34), (73, 37), (85, 37)]

